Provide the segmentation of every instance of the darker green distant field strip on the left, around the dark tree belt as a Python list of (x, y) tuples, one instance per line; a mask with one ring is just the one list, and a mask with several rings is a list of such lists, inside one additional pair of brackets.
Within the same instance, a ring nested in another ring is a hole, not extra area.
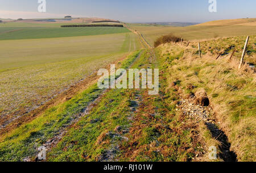
[[(111, 33), (130, 32), (127, 28), (89, 27), (61, 28), (62, 25), (85, 23), (0, 23), (0, 40), (42, 39), (53, 37), (75, 37), (108, 35)], [(108, 24), (108, 23), (96, 23)]]

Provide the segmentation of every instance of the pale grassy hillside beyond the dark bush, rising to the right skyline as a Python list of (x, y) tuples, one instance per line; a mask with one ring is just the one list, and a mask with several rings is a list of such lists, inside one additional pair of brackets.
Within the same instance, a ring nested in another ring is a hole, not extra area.
[[(254, 20), (253, 20), (254, 21)], [(246, 36), (256, 34), (256, 25), (245, 20), (230, 22), (212, 22), (188, 27), (154, 26), (150, 24), (128, 24), (129, 27), (141, 32), (151, 45), (158, 37), (173, 33), (185, 40), (203, 40), (214, 37)]]

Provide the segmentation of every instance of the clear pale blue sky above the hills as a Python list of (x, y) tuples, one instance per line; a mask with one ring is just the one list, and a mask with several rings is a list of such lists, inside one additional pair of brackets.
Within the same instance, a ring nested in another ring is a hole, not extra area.
[(256, 18), (256, 0), (46, 0), (46, 13), (38, 0), (0, 0), (0, 18), (100, 17), (123, 22), (207, 22), (218, 19)]

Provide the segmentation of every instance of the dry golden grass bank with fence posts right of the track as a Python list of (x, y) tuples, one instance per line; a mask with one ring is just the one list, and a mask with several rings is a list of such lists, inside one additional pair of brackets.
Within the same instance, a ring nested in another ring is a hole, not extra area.
[[(179, 81), (183, 95), (195, 93), (204, 88), (210, 99), (220, 128), (225, 131), (231, 143), (231, 149), (236, 151), (239, 161), (255, 161), (255, 73), (248, 65), (238, 70), (239, 58), (242, 53), (245, 37), (231, 37), (204, 41), (203, 56), (199, 58), (196, 43), (192, 47), (166, 44), (159, 47), (161, 57), (170, 75), (167, 82)], [(230, 49), (230, 46), (234, 46)], [(233, 59), (229, 56), (236, 48)], [(224, 49), (225, 53), (216, 60), (217, 52)], [(228, 50), (229, 49), (229, 50)], [(182, 50), (183, 56), (173, 57), (172, 54)], [(255, 57), (255, 36), (251, 37), (247, 49), (246, 61)], [(188, 87), (193, 86), (193, 87)]]

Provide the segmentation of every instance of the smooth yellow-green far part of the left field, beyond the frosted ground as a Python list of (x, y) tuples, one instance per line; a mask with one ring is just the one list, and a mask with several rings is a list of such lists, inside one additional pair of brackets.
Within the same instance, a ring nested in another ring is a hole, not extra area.
[(118, 33), (53, 39), (2, 40), (0, 70), (127, 52), (138, 47), (138, 43), (133, 42), (134, 39), (133, 33)]

